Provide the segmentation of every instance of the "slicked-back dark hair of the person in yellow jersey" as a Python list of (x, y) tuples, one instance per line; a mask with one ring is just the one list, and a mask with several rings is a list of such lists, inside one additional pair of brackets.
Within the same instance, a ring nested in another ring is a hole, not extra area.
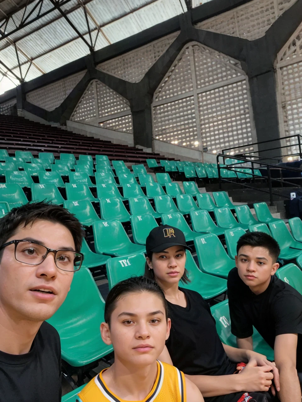
[(163, 291), (155, 281), (143, 276), (139, 276), (125, 279), (124, 281), (118, 282), (116, 285), (114, 285), (114, 287), (112, 287), (112, 289), (108, 293), (105, 303), (105, 311), (104, 311), (105, 322), (107, 322), (107, 324), (109, 324), (110, 326), (112, 312), (116, 308), (116, 302), (122, 296), (128, 293), (142, 293), (142, 292), (154, 293), (161, 299), (161, 301), (163, 302), (163, 306), (165, 308), (165, 316), (167, 320), (168, 303), (167, 300), (165, 299)]

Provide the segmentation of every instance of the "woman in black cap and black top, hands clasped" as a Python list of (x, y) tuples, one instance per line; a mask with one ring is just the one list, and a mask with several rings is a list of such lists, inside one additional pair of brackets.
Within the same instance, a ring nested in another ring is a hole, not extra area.
[[(159, 360), (183, 371), (206, 402), (267, 401), (270, 395), (259, 391), (269, 390), (273, 375), (279, 386), (276, 367), (259, 353), (222, 344), (203, 297), (179, 287), (180, 281), (189, 281), (186, 249), (190, 250), (182, 231), (168, 225), (151, 230), (146, 240), (145, 276), (154, 279), (165, 293), (172, 322)], [(233, 375), (239, 362), (248, 364), (240, 375)]]

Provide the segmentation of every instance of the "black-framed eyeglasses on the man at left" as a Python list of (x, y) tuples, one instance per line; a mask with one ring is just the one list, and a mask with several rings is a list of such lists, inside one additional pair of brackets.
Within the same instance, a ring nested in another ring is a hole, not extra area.
[(12, 240), (11, 242), (2, 244), (0, 250), (10, 244), (14, 244), (14, 258), (16, 258), (19, 263), (29, 265), (41, 264), (48, 253), (53, 252), (54, 262), (58, 269), (75, 272), (79, 271), (81, 268), (84, 258), (84, 254), (81, 252), (66, 249), (53, 250), (52, 248), (28, 240)]

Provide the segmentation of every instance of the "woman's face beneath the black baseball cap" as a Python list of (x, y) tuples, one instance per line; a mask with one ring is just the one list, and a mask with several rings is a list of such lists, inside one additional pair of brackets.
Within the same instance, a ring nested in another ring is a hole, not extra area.
[(147, 257), (147, 264), (153, 269), (158, 283), (178, 283), (184, 275), (185, 249), (182, 246), (173, 246), (162, 252), (153, 252), (152, 260)]

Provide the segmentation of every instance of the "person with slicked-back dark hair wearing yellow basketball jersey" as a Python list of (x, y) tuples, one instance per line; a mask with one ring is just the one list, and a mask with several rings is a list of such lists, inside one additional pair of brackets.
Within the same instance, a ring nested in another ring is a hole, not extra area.
[(170, 334), (168, 306), (160, 287), (145, 277), (116, 284), (105, 304), (101, 337), (114, 347), (114, 364), (96, 375), (78, 402), (204, 402), (176, 367), (158, 361)]

